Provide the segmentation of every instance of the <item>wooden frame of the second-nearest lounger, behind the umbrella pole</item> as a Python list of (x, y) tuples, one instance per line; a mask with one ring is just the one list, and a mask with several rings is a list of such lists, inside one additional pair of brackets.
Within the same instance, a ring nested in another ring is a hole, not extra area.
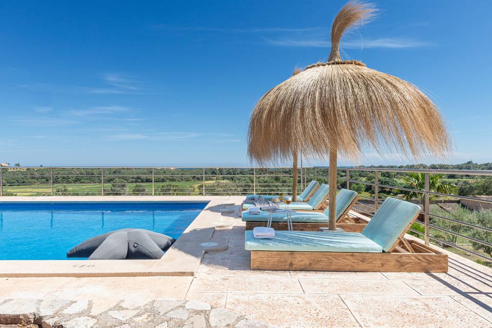
[[(354, 204), (359, 200), (359, 195), (357, 195), (354, 200), (348, 205), (346, 210), (342, 213), (337, 221), (337, 228), (342, 228), (346, 232), (361, 232), (366, 224), (367, 220), (363, 218), (352, 218), (348, 215), (348, 211), (352, 209)], [(326, 202), (326, 201), (324, 201)], [(299, 211), (308, 212), (308, 211)], [(311, 211), (313, 212), (313, 211)], [(323, 212), (320, 210), (315, 210), (315, 212)], [(311, 222), (292, 222), (293, 228), (296, 231), (319, 231), (319, 228), (328, 228), (329, 223), (311, 223)], [(246, 230), (253, 230), (255, 227), (267, 227), (267, 222), (257, 222), (249, 221), (246, 222)], [(287, 227), (287, 222), (272, 222), (272, 228), (275, 230), (289, 230)]]

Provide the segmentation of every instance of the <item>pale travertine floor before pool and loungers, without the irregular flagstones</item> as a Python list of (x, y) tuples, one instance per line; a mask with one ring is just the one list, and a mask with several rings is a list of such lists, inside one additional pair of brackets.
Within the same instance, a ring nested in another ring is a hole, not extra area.
[(0, 278), (0, 301), (90, 300), (95, 315), (177, 298), (280, 327), (492, 327), (492, 270), (460, 256), (445, 274), (251, 271), (240, 218), (222, 220), (232, 228), (214, 238), (229, 249), (205, 254), (194, 277)]

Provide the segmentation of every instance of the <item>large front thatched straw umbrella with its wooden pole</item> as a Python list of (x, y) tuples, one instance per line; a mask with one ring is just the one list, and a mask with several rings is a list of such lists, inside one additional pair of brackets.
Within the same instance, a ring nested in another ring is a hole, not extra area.
[(306, 67), (267, 92), (256, 105), (249, 127), (248, 153), (260, 165), (287, 160), (301, 151), (330, 158), (330, 229), (336, 229), (337, 154), (357, 159), (363, 150), (399, 152), (408, 157), (442, 156), (450, 138), (432, 101), (414, 85), (341, 60), (340, 39), (370, 20), (372, 4), (347, 3), (332, 26), (326, 63)]

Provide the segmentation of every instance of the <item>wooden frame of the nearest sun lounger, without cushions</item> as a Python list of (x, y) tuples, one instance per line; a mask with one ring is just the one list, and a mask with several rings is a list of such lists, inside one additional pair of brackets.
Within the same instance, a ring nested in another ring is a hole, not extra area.
[(418, 214), (385, 253), (251, 251), (252, 270), (447, 272), (447, 254), (406, 239)]

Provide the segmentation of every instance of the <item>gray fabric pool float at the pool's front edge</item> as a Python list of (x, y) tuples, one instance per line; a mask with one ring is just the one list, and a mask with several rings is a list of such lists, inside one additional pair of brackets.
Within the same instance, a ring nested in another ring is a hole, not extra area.
[(67, 257), (89, 260), (159, 259), (176, 240), (145, 229), (121, 229), (89, 238), (68, 253)]

